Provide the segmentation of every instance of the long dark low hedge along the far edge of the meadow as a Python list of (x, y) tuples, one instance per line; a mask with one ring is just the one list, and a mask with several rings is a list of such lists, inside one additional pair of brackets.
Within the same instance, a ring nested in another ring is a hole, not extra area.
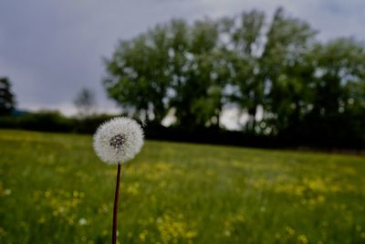
[[(362, 116), (362, 115), (361, 115)], [(113, 118), (113, 115), (99, 114), (86, 118), (68, 118), (57, 111), (30, 112), (21, 116), (0, 116), (0, 128), (23, 129), (55, 133), (95, 133), (99, 124)], [(362, 117), (361, 117), (362, 118)], [(317, 127), (305, 127), (306, 130), (287, 131), (280, 134), (255, 134), (230, 132), (219, 128), (189, 129), (164, 127), (156, 122), (148, 122), (144, 128), (146, 138), (152, 140), (175, 141), (186, 143), (227, 144), (260, 148), (318, 148), (318, 149), (351, 149), (365, 148), (365, 135), (360, 124), (347, 123), (338, 118), (335, 124), (317, 120)], [(351, 122), (358, 122), (351, 120)], [(309, 124), (309, 123), (308, 123)], [(340, 130), (341, 126), (348, 128)], [(336, 132), (336, 133), (333, 133)], [(350, 132), (350, 133), (349, 133)]]

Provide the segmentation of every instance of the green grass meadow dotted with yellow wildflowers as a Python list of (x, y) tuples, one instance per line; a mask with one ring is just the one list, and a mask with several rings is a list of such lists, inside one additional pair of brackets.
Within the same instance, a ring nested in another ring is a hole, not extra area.
[[(110, 243), (116, 166), (85, 135), (0, 130), (0, 243)], [(120, 243), (365, 243), (365, 157), (148, 141)]]

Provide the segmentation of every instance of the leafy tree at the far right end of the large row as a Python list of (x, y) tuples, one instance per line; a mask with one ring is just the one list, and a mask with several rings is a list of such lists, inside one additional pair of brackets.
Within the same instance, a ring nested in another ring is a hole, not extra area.
[(365, 142), (364, 45), (338, 38), (318, 43), (310, 55), (315, 69), (306, 132), (328, 141)]

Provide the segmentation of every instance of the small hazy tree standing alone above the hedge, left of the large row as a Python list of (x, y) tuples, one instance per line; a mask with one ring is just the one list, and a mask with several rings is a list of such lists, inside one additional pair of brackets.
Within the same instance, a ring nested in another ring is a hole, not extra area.
[(96, 105), (95, 92), (87, 88), (81, 89), (76, 95), (74, 104), (80, 117), (91, 115)]

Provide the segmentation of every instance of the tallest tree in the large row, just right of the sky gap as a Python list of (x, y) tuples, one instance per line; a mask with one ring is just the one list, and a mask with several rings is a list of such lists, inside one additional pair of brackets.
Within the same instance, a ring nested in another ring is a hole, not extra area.
[(316, 34), (308, 23), (285, 16), (281, 8), (276, 10), (261, 58), (265, 88), (270, 88), (264, 108), (275, 116), (276, 132), (297, 128), (301, 111), (306, 109), (314, 72), (307, 54), (315, 44)]

